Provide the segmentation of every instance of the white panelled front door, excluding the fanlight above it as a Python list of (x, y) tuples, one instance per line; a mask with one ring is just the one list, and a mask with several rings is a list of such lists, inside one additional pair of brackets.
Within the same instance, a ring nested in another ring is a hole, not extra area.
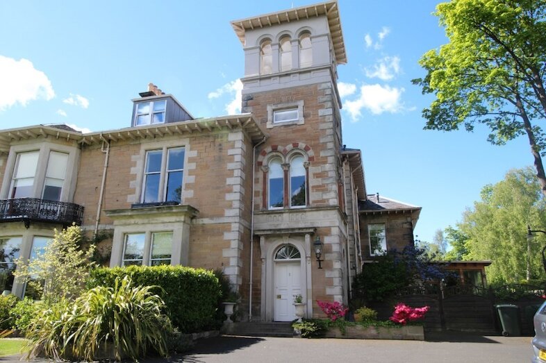
[(275, 263), (275, 321), (296, 319), (294, 296), (301, 294), (300, 262)]

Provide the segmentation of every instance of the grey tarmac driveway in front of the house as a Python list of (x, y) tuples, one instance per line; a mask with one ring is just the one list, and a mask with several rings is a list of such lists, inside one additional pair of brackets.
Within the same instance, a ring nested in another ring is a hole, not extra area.
[[(395, 341), (224, 336), (202, 339), (193, 351), (185, 355), (174, 356), (168, 360), (147, 359), (144, 363), (524, 363), (531, 360), (531, 337), (437, 334), (427, 339), (427, 341)], [(19, 357), (0, 358), (0, 363), (16, 362), (19, 362)]]

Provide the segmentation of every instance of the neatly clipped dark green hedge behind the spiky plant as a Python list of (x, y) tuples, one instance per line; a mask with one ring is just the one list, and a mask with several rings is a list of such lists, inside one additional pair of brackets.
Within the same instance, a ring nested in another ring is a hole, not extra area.
[(213, 271), (183, 266), (101, 267), (91, 272), (88, 287), (113, 287), (116, 277), (129, 276), (135, 285), (158, 286), (173, 326), (181, 332), (217, 328), (215, 320), (220, 283)]

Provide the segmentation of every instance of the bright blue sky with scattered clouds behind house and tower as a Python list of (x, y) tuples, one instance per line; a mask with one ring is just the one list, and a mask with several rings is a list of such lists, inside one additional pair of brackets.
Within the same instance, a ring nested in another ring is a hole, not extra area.
[[(0, 128), (66, 123), (130, 126), (131, 99), (153, 82), (195, 117), (238, 112), (242, 47), (229, 22), (311, 1), (1, 1)], [(431, 101), (411, 79), (447, 42), (439, 1), (340, 0), (344, 144), (362, 150), (367, 192), (423, 208), (415, 234), (431, 241), (479, 199), (483, 185), (532, 163), (523, 138), (487, 130), (422, 130)]]

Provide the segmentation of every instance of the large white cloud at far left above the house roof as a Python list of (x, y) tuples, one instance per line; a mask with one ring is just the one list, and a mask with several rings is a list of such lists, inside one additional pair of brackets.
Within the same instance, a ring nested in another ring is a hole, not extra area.
[(15, 60), (0, 56), (0, 111), (15, 103), (26, 106), (28, 101), (55, 96), (51, 81), (46, 74), (34, 68), (30, 60)]

